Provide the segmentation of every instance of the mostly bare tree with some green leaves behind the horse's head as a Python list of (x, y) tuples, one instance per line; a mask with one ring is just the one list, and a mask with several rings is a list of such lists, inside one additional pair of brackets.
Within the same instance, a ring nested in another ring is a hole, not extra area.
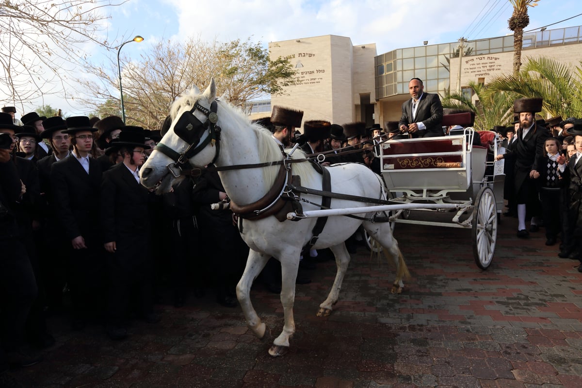
[[(212, 77), (218, 94), (241, 108), (247, 101), (283, 93), (296, 83), (289, 58), (271, 60), (268, 50), (250, 38), (227, 43), (161, 41), (139, 59), (120, 59), (126, 124), (150, 129), (157, 128), (168, 115), (176, 97), (193, 85), (203, 89)], [(83, 103), (99, 117), (106, 113), (120, 115), (116, 57), (111, 57), (108, 69), (87, 64), (86, 71), (95, 77), (78, 80), (92, 92), (91, 100), (84, 99)]]

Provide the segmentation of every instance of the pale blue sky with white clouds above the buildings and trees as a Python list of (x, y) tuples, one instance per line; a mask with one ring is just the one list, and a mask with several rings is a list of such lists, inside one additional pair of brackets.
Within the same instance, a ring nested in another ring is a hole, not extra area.
[[(379, 55), (422, 45), (423, 41), (437, 44), (456, 42), (461, 37), (475, 40), (505, 36), (512, 33), (507, 23), (512, 11), (508, 0), (128, 0), (105, 9), (109, 18), (101, 37), (117, 46), (136, 35), (143, 36), (143, 42), (123, 47), (122, 57), (129, 59), (139, 57), (159, 41), (187, 37), (204, 41), (250, 38), (267, 48), (271, 41), (328, 34), (349, 37), (354, 45), (375, 43)], [(530, 25), (525, 30), (540, 29), (579, 14), (580, 0), (540, 0), (537, 6), (528, 8)], [(570, 26), (582, 26), (582, 16), (553, 24), (548, 30)], [(90, 45), (84, 49), (95, 63), (116, 55), (116, 51)], [(90, 91), (73, 87), (70, 93), (74, 96)], [(6, 104), (1, 91), (0, 101)], [(17, 107), (17, 117), (42, 104), (61, 108), (66, 115), (88, 114), (87, 108), (76, 101), (39, 96), (33, 103)]]

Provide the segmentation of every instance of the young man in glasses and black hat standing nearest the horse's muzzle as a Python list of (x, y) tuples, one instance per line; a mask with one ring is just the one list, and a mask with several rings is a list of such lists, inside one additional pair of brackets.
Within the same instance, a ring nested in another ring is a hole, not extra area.
[(111, 339), (122, 340), (127, 337), (130, 295), (137, 295), (137, 313), (142, 318), (149, 323), (159, 321), (153, 312), (148, 210), (155, 195), (140, 184), (139, 167), (144, 164), (145, 150), (150, 149), (143, 128), (125, 126), (118, 141), (111, 144), (107, 153), (114, 149), (123, 162), (105, 171), (101, 182), (101, 227), (109, 280), (106, 331)]

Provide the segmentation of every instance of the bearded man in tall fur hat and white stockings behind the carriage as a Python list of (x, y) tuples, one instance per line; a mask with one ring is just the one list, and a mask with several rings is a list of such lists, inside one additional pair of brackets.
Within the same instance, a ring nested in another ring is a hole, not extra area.
[(505, 155), (496, 156), (496, 160), (505, 158), (515, 162), (514, 197), (517, 203), (517, 237), (520, 238), (530, 235), (526, 230), (526, 213), (531, 217), (530, 231), (538, 231), (540, 228), (535, 219), (540, 213), (540, 202), (534, 182), (537, 178), (534, 161), (543, 156), (544, 143), (549, 136), (548, 130), (535, 122), (535, 113), (541, 110), (541, 98), (520, 98), (514, 101), (513, 111), (519, 114), (520, 128), (517, 130), (516, 140)]

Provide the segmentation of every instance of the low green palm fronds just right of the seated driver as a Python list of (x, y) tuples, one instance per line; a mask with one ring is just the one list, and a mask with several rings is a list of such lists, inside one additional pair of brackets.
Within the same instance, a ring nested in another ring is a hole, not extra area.
[(491, 129), (495, 125), (508, 125), (512, 121), (515, 99), (512, 92), (489, 94), (487, 85), (474, 81), (469, 82), (469, 86), (477, 95), (478, 100), (475, 103), (463, 93), (453, 91), (442, 99), (443, 108), (474, 112), (474, 128), (477, 130)]

